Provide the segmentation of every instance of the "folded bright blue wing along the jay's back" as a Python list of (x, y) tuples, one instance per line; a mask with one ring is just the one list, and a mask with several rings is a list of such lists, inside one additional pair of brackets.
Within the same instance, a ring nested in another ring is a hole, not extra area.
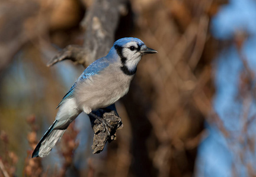
[(62, 101), (60, 101), (59, 105), (57, 106), (57, 108), (62, 105), (67, 99), (70, 99), (71, 97), (73, 97), (73, 92), (74, 92), (74, 88), (76, 86), (76, 83), (78, 81), (81, 80), (85, 80), (90, 76), (93, 76), (95, 74), (99, 74), (100, 71), (104, 70), (104, 68), (108, 67), (109, 63), (107, 61), (106, 58), (100, 58), (96, 61), (94, 61), (94, 63), (90, 64), (85, 70), (84, 72), (81, 74), (81, 76), (78, 77), (78, 80), (76, 80), (76, 82), (73, 84), (73, 86), (71, 87), (71, 89), (68, 91), (68, 93), (63, 97)]

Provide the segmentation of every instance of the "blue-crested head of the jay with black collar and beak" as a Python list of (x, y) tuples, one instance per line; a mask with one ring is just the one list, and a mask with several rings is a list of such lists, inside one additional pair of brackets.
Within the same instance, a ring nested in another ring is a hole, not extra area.
[(138, 38), (121, 38), (114, 42), (114, 49), (120, 57), (121, 70), (127, 75), (136, 73), (142, 55), (157, 53)]

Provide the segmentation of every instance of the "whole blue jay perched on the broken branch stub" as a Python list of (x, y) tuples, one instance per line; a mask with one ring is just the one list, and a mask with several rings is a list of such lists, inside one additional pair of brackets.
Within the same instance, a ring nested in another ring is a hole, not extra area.
[(138, 38), (120, 38), (109, 53), (90, 64), (60, 101), (55, 122), (37, 144), (32, 158), (49, 155), (69, 124), (84, 112), (111, 106), (129, 91), (137, 64), (145, 54), (158, 53)]

